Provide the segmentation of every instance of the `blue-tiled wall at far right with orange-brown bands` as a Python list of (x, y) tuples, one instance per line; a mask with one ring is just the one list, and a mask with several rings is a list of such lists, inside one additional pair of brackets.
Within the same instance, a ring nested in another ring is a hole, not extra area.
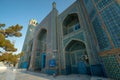
[[(120, 79), (120, 6), (116, 0), (84, 0), (84, 5), (92, 24), (106, 75)], [(116, 58), (116, 56), (118, 56)]]

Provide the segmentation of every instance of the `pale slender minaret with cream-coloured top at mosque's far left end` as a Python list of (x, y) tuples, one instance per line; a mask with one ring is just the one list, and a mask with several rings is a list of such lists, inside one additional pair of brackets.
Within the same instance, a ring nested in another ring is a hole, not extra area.
[(34, 31), (35, 31), (35, 28), (36, 28), (37, 24), (38, 23), (37, 23), (37, 21), (35, 19), (31, 19), (29, 21), (27, 33), (26, 33), (23, 48), (22, 48), (22, 52), (24, 52), (24, 56), (23, 56), (23, 58), (20, 59), (19, 65), (22, 65), (23, 63), (28, 62), (27, 57), (30, 54), (30, 53), (28, 53), (29, 48), (30, 48), (30, 42), (33, 39)]

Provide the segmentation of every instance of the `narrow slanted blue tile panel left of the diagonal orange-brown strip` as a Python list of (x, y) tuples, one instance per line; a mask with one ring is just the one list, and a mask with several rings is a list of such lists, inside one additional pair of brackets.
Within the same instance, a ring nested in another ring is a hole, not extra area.
[(108, 50), (111, 48), (110, 41), (102, 28), (102, 23), (99, 18), (96, 16), (92, 22), (93, 28), (98, 40), (98, 44), (101, 50)]

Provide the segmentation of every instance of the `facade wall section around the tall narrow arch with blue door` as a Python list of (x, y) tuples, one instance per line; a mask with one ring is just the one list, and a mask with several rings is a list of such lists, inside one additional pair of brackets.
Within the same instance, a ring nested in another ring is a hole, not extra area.
[[(52, 11), (37, 26), (34, 33), (35, 36), (33, 40), (32, 57), (31, 57), (31, 63), (29, 69), (37, 70), (38, 68), (40, 68), (41, 70), (44, 69), (47, 70), (49, 68), (49, 60), (51, 60), (53, 56), (56, 56), (57, 51), (55, 50), (57, 50), (57, 38), (56, 38), (57, 15), (58, 14), (56, 8), (53, 8)], [(41, 38), (42, 35), (44, 35), (41, 33), (43, 30), (46, 30), (47, 33), (44, 43), (46, 46), (45, 51), (40, 49), (40, 45), (43, 43), (40, 43), (41, 41), (38, 39)], [(46, 61), (45, 61), (45, 67), (42, 68), (42, 55), (44, 53), (46, 55)], [(39, 65), (36, 66), (38, 63)]]

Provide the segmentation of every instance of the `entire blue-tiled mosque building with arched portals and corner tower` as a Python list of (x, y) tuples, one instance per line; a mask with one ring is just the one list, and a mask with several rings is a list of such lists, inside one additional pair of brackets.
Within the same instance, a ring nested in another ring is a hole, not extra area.
[(120, 79), (119, 0), (76, 0), (60, 14), (53, 2), (30, 20), (22, 51), (19, 68)]

